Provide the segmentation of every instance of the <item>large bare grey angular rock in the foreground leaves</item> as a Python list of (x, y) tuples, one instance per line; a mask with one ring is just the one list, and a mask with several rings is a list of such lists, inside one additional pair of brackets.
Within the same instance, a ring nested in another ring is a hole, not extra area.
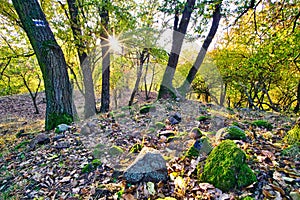
[(144, 147), (123, 177), (130, 183), (160, 182), (168, 178), (166, 161), (158, 150)]

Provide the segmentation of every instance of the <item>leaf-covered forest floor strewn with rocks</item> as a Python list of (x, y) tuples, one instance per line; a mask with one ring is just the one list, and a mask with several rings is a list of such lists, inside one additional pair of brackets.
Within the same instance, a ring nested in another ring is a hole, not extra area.
[[(287, 155), (284, 151), (288, 145), (282, 141), (297, 116), (232, 110), (196, 101), (157, 101), (153, 103), (155, 109), (140, 114), (140, 105), (97, 115), (56, 133), (43, 131), (42, 94), (38, 97), (40, 114), (34, 114), (28, 95), (1, 97), (0, 199), (300, 198), (299, 148)], [(168, 125), (167, 119), (174, 113), (180, 113), (182, 121)], [(205, 116), (206, 120), (199, 121), (199, 116)], [(272, 128), (253, 126), (257, 119), (270, 122)], [(166, 125), (164, 130), (180, 135), (180, 142), (158, 137), (162, 129), (155, 125), (157, 122)], [(188, 134), (192, 128), (199, 127), (210, 137), (212, 146), (216, 146), (216, 131), (232, 124), (247, 134), (246, 141), (235, 142), (247, 153), (247, 163), (255, 172), (257, 182), (225, 193), (198, 180), (195, 163), (204, 165), (205, 156), (199, 161), (183, 155), (193, 142)], [(33, 141), (40, 133), (45, 133), (49, 140), (37, 145)], [(132, 159), (100, 155), (99, 144), (118, 146), (123, 155), (128, 155), (135, 144), (158, 149), (167, 159), (168, 181), (154, 183), (154, 187), (148, 183), (126, 183), (122, 171), (133, 162), (135, 155)], [(175, 181), (178, 176), (181, 182)]]

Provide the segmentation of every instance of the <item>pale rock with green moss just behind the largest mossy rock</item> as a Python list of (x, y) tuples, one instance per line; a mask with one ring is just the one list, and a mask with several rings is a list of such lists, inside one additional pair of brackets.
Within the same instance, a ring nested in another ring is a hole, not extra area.
[(243, 129), (237, 126), (229, 126), (220, 129), (216, 134), (216, 138), (220, 140), (245, 140), (246, 133)]

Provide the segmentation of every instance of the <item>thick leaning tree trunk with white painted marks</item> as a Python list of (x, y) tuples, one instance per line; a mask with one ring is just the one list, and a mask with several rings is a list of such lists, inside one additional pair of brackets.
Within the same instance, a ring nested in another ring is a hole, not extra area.
[(45, 129), (73, 121), (72, 89), (64, 54), (37, 0), (13, 0), (23, 28), (37, 56), (46, 92)]

